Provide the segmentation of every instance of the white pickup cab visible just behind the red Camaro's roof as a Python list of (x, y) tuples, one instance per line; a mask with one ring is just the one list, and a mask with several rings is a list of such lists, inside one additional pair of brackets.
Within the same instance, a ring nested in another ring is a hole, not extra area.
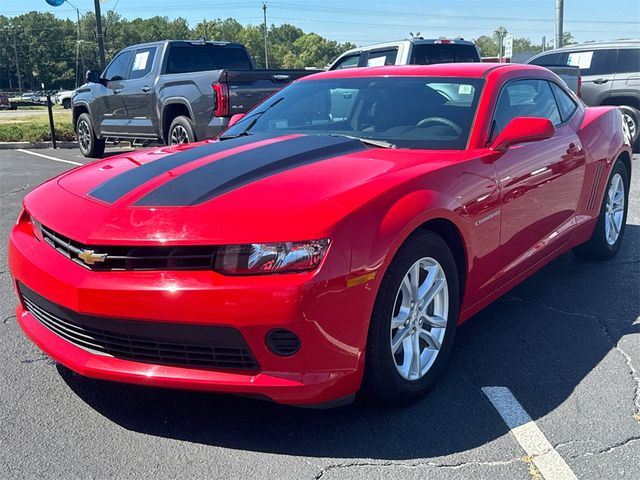
[(329, 66), (329, 70), (479, 61), (480, 52), (473, 42), (462, 38), (428, 40), (414, 37), (409, 40), (378, 43), (348, 50)]

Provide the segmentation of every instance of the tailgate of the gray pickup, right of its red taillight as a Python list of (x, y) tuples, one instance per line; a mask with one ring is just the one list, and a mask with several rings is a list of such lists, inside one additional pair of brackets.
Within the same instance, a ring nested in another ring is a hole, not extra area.
[(229, 89), (229, 115), (245, 113), (298, 78), (322, 70), (225, 70), (220, 81)]

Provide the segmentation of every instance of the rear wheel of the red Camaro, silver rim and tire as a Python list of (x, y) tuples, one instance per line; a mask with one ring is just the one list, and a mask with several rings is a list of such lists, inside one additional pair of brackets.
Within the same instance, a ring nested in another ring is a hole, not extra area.
[(604, 192), (598, 223), (588, 242), (573, 249), (579, 257), (607, 260), (620, 249), (627, 222), (629, 174), (618, 159)]

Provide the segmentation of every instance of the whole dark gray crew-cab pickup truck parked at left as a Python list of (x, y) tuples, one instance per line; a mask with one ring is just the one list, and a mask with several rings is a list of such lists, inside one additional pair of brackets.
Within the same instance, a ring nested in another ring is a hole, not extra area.
[(216, 137), (287, 83), (313, 70), (258, 70), (243, 45), (172, 40), (120, 51), (102, 74), (87, 72), (73, 97), (80, 151), (100, 157), (107, 140), (169, 145)]

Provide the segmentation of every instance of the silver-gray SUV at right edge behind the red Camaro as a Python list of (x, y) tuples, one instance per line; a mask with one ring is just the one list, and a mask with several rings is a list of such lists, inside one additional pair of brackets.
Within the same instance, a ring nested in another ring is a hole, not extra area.
[(589, 106), (619, 106), (633, 144), (640, 148), (640, 40), (570, 45), (528, 63), (580, 67), (582, 100)]

